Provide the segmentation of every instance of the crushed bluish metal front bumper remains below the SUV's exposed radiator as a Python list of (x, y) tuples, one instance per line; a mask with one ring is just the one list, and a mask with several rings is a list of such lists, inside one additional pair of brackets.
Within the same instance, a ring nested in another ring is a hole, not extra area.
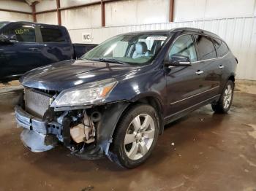
[(55, 144), (45, 144), (48, 134), (61, 135), (61, 126), (58, 122), (43, 122), (37, 117), (15, 106), (15, 119), (18, 126), (24, 128), (20, 139), (24, 146), (32, 152), (44, 152), (53, 149)]

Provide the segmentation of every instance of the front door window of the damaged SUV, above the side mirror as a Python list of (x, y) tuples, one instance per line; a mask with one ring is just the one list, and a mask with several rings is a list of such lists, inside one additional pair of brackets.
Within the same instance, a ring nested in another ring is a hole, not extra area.
[(197, 61), (197, 53), (195, 51), (195, 43), (191, 35), (179, 36), (170, 48), (169, 59), (173, 55), (188, 56), (191, 62)]

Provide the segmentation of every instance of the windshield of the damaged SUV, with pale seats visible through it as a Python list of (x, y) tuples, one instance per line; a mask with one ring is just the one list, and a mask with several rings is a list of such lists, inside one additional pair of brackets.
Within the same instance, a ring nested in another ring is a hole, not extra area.
[(157, 55), (167, 34), (124, 34), (114, 36), (80, 59), (145, 65)]

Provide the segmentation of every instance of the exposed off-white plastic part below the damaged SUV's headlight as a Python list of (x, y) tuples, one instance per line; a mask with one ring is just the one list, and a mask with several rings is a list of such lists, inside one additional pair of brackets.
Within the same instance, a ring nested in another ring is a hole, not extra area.
[(70, 136), (76, 143), (85, 142), (86, 144), (89, 144), (95, 141), (94, 122), (92, 122), (86, 112), (83, 114), (82, 123), (70, 128)]

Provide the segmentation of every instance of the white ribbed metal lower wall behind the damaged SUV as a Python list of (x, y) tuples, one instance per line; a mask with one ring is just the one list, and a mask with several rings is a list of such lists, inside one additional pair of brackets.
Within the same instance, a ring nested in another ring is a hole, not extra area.
[(256, 17), (157, 23), (137, 26), (69, 29), (73, 42), (82, 42), (82, 33), (89, 32), (92, 42), (99, 44), (116, 34), (130, 31), (163, 30), (176, 27), (202, 28), (221, 36), (238, 58), (237, 79), (256, 80)]

